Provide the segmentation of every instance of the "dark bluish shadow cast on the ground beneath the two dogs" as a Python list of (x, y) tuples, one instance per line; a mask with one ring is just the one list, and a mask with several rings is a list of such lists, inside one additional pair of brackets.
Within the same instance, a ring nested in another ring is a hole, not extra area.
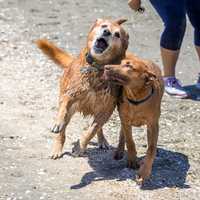
[[(93, 171), (86, 173), (81, 178), (80, 183), (71, 186), (71, 189), (80, 189), (94, 181), (101, 180), (125, 181), (131, 179), (134, 181), (136, 170), (126, 168), (126, 156), (120, 161), (115, 161), (112, 156), (113, 148), (107, 151), (98, 148), (88, 149), (88, 163)], [(158, 148), (151, 178), (145, 182), (141, 189), (189, 188), (185, 183), (189, 167), (186, 155)]]

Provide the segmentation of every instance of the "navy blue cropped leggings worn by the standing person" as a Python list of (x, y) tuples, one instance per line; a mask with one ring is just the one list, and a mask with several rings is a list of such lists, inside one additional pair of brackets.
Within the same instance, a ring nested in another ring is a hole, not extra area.
[(150, 0), (164, 22), (160, 45), (179, 50), (186, 28), (186, 14), (194, 27), (194, 44), (200, 46), (200, 0)]

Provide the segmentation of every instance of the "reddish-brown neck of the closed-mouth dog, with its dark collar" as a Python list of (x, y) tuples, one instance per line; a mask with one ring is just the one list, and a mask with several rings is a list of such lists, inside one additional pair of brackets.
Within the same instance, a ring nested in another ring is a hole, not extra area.
[(123, 97), (126, 102), (139, 105), (147, 101), (154, 93), (153, 86), (148, 87), (130, 87), (124, 86)]

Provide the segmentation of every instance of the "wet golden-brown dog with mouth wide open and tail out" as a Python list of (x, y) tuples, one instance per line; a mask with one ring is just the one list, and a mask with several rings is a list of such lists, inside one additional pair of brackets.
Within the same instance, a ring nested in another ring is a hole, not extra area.
[(54, 138), (52, 158), (59, 158), (65, 142), (65, 128), (75, 112), (93, 116), (94, 121), (82, 135), (74, 149), (81, 155), (97, 133), (101, 147), (107, 147), (102, 126), (117, 104), (118, 87), (102, 79), (104, 65), (120, 64), (128, 47), (128, 34), (121, 27), (126, 20), (98, 19), (87, 38), (87, 47), (77, 58), (46, 40), (38, 40), (38, 47), (64, 68), (60, 80), (59, 110), (52, 132)]

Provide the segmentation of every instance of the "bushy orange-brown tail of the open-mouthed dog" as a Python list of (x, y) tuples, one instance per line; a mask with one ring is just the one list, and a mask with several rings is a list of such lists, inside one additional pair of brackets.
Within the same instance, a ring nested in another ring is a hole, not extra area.
[(73, 61), (73, 56), (56, 47), (46, 39), (37, 40), (36, 44), (44, 54), (61, 66), (61, 68), (66, 68)]

